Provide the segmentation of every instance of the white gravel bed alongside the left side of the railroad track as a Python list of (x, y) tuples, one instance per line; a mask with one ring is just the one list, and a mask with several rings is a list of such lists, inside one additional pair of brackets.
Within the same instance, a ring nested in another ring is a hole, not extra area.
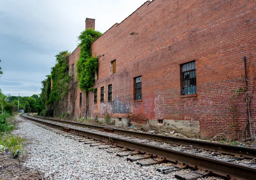
[(31, 141), (26, 147), (29, 158), (24, 166), (42, 171), (45, 177), (55, 180), (176, 180), (174, 174), (188, 171), (165, 175), (156, 169), (171, 163), (141, 167), (126, 161), (126, 157), (79, 143), (27, 120), (22, 120), (19, 128), (15, 134), (23, 134)]

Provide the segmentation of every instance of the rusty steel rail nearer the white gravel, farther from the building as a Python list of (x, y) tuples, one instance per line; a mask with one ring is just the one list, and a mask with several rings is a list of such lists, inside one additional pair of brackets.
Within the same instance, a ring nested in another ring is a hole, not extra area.
[[(57, 129), (63, 129), (64, 126), (57, 125), (54, 123), (45, 122), (43, 120), (34, 119), (32, 117), (25, 117), (28, 120), (35, 121), (47, 126), (51, 126)], [(118, 144), (118, 146), (125, 146), (129, 149), (139, 149), (140, 151), (145, 151), (147, 153), (159, 155), (166, 157), (166, 160), (173, 163), (183, 163), (188, 167), (197, 167), (198, 169), (203, 169), (204, 171), (209, 171), (209, 175), (218, 175), (224, 177), (225, 179), (232, 180), (253, 180), (256, 177), (256, 169), (240, 164), (229, 163), (221, 160), (211, 159), (208, 157), (202, 157), (195, 154), (189, 154), (186, 152), (175, 151), (172, 149), (160, 148), (157, 146), (147, 145), (143, 143), (138, 143), (130, 140), (124, 140), (116, 137), (111, 137), (107, 135), (97, 134), (94, 132), (83, 131), (79, 129), (69, 128), (71, 133), (77, 133), (79, 135), (84, 135), (88, 137), (93, 137), (98, 140), (107, 140), (111, 138), (113, 143)]]

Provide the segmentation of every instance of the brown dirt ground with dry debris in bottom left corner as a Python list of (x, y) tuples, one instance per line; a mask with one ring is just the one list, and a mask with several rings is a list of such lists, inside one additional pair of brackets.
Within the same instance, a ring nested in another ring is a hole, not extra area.
[(24, 160), (0, 154), (0, 180), (48, 180), (44, 173), (23, 167)]

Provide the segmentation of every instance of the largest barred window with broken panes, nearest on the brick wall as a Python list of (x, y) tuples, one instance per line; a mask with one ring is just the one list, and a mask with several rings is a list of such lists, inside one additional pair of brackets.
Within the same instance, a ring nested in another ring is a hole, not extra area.
[(196, 94), (195, 61), (181, 65), (182, 95)]

